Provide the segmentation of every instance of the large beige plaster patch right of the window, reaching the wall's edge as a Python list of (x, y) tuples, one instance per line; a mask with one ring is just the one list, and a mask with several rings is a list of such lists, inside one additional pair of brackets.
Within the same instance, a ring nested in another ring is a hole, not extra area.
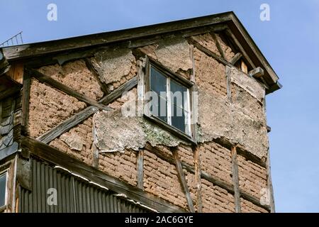
[(240, 104), (230, 103), (227, 97), (208, 95), (198, 89), (198, 142), (224, 137), (258, 157), (266, 156), (267, 128), (264, 121), (249, 113), (250, 110), (242, 109)]

